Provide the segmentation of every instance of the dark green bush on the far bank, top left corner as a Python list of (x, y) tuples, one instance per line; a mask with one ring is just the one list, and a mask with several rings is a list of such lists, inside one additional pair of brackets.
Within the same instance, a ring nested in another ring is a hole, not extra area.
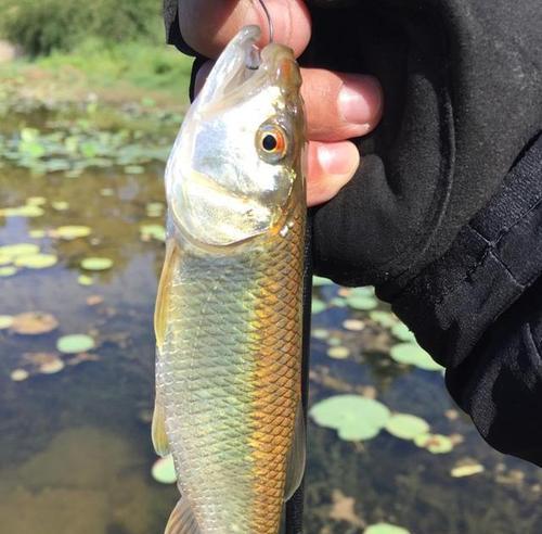
[(105, 43), (163, 40), (155, 0), (0, 0), (0, 34), (26, 53), (72, 50), (88, 36)]

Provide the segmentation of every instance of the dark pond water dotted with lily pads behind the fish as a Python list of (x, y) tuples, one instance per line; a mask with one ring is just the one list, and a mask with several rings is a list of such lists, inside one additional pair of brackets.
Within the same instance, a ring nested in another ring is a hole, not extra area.
[[(23, 106), (1, 126), (0, 246), (28, 243), (40, 254), (0, 249), (2, 534), (159, 534), (178, 497), (152, 476), (150, 417), (162, 173), (180, 117), (144, 106), (116, 113), (93, 102)], [(75, 225), (85, 228), (61, 229)], [(81, 267), (92, 257), (111, 262)], [(412, 341), (371, 290), (318, 280), (314, 297), (311, 405), (351, 394), (383, 403), (388, 422), (409, 414), (429, 429), (398, 437), (360, 405), (339, 438), (314, 408), (306, 532), (382, 522), (412, 534), (540, 532), (540, 471), (483, 443), (439, 369), (393, 353)], [(57, 343), (70, 334), (91, 344)], [(373, 421), (371, 438), (359, 420)]]

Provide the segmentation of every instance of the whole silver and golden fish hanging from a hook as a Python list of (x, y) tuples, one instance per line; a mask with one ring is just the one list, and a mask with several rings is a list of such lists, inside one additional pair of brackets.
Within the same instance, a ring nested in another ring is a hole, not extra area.
[(152, 437), (181, 498), (166, 534), (278, 534), (306, 457), (306, 122), (293, 51), (224, 48), (166, 165)]

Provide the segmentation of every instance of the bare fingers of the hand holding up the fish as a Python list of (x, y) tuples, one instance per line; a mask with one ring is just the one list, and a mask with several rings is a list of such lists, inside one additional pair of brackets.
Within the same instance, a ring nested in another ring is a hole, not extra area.
[[(274, 40), (291, 47), (299, 56), (311, 36), (305, 3), (264, 1), (273, 22)], [(247, 24), (262, 28), (260, 46), (269, 42), (268, 21), (257, 1), (180, 0), (179, 24), (185, 42), (211, 59)], [(197, 73), (196, 92), (211, 66), (209, 61)], [(348, 139), (364, 136), (377, 125), (383, 94), (372, 76), (323, 68), (301, 68), (301, 76), (309, 137), (307, 202), (315, 205), (332, 199), (358, 169), (359, 151)]]

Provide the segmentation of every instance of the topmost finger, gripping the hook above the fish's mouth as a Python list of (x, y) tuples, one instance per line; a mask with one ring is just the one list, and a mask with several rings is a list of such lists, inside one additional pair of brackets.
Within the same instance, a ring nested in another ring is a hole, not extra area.
[[(264, 0), (274, 40), (294, 50), (296, 58), (310, 39), (310, 15), (302, 0)], [(258, 0), (179, 0), (179, 26), (186, 43), (206, 58), (217, 58), (247, 24), (260, 26), (258, 44), (269, 42), (269, 24)]]

